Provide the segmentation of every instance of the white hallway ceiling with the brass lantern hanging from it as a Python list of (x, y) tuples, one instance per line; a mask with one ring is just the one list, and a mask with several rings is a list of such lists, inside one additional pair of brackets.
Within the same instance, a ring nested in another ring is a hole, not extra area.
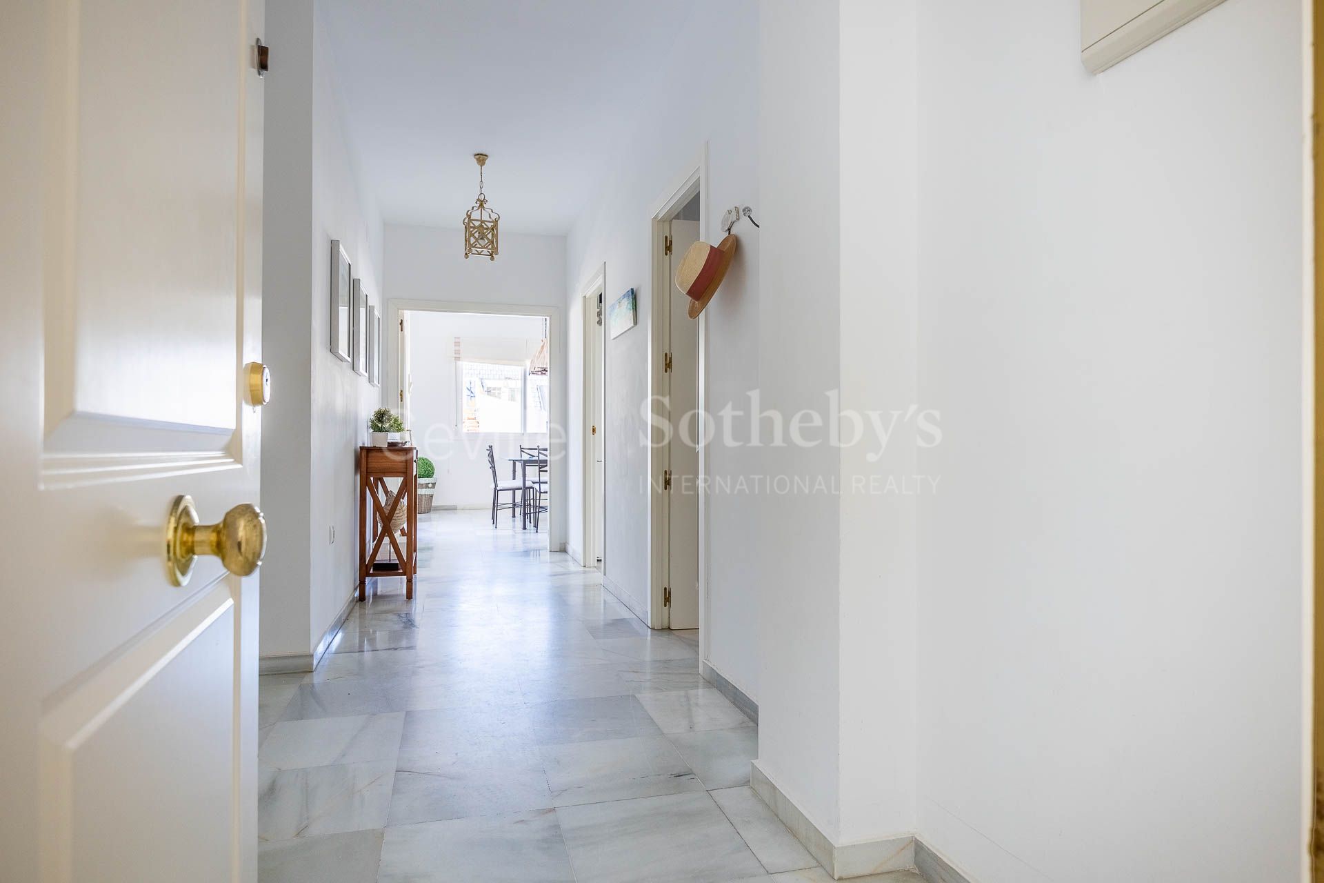
[(569, 232), (698, 0), (324, 0), (344, 122), (389, 224)]

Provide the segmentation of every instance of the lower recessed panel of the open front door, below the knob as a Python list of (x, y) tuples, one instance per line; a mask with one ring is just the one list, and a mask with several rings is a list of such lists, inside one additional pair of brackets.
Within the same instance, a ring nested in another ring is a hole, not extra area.
[[(50, 855), (69, 860), (54, 876), (232, 879), (216, 808), (230, 805), (234, 625), (217, 585), (46, 715), (41, 786), (62, 845)], [(152, 800), (124, 813), (144, 788)]]

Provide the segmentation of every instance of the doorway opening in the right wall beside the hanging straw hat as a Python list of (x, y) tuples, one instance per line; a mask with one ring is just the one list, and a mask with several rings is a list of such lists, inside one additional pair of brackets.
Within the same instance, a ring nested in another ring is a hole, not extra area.
[[(653, 401), (671, 432), (654, 438), (651, 469), (651, 604), (655, 629), (702, 629), (704, 605), (703, 349), (704, 318), (688, 316), (675, 287), (686, 249), (707, 240), (706, 162), (658, 200), (653, 213)], [(702, 635), (702, 630), (700, 630)]]

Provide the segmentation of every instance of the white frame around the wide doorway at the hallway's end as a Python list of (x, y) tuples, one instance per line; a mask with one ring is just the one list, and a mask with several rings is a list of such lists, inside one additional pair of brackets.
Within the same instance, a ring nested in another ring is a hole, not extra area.
[[(561, 357), (561, 308), (532, 303), (469, 303), (463, 301), (420, 301), (416, 298), (389, 298), (387, 301), (387, 315), (392, 327), (400, 327), (400, 314), (408, 311), (428, 312), (470, 312), (494, 316), (542, 316), (547, 319), (547, 359), (551, 363), (547, 393), (551, 398), (551, 422), (547, 426), (547, 459), (556, 467), (548, 475), (548, 490), (552, 496), (552, 506), (547, 507), (547, 548), (552, 552), (565, 551), (565, 524), (556, 518), (556, 506), (564, 506), (565, 500), (565, 401), (559, 387), (565, 376), (565, 364)], [(399, 343), (397, 343), (399, 348)], [(396, 353), (393, 364), (399, 363)], [(401, 377), (399, 369), (395, 377), (389, 377), (392, 387), (385, 383), (383, 389), (400, 389)], [(389, 395), (389, 393), (387, 393)]]

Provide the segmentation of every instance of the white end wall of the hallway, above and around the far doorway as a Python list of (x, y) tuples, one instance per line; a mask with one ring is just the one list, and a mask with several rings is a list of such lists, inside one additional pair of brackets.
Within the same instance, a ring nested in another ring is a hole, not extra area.
[[(502, 233), (495, 261), (465, 258), (459, 229), (432, 226), (385, 228), (387, 301), (434, 301), (444, 303), (515, 304), (553, 308), (552, 327), (552, 426), (548, 434), (551, 467), (551, 548), (565, 543), (565, 372), (556, 360), (565, 352), (565, 240), (559, 236)], [(416, 312), (417, 316), (422, 311)], [(385, 319), (383, 323), (385, 324)], [(399, 387), (399, 339), (387, 334), (383, 353), (383, 402), (395, 406)], [(486, 461), (486, 453), (483, 454)], [(508, 474), (508, 473), (507, 473)]]

